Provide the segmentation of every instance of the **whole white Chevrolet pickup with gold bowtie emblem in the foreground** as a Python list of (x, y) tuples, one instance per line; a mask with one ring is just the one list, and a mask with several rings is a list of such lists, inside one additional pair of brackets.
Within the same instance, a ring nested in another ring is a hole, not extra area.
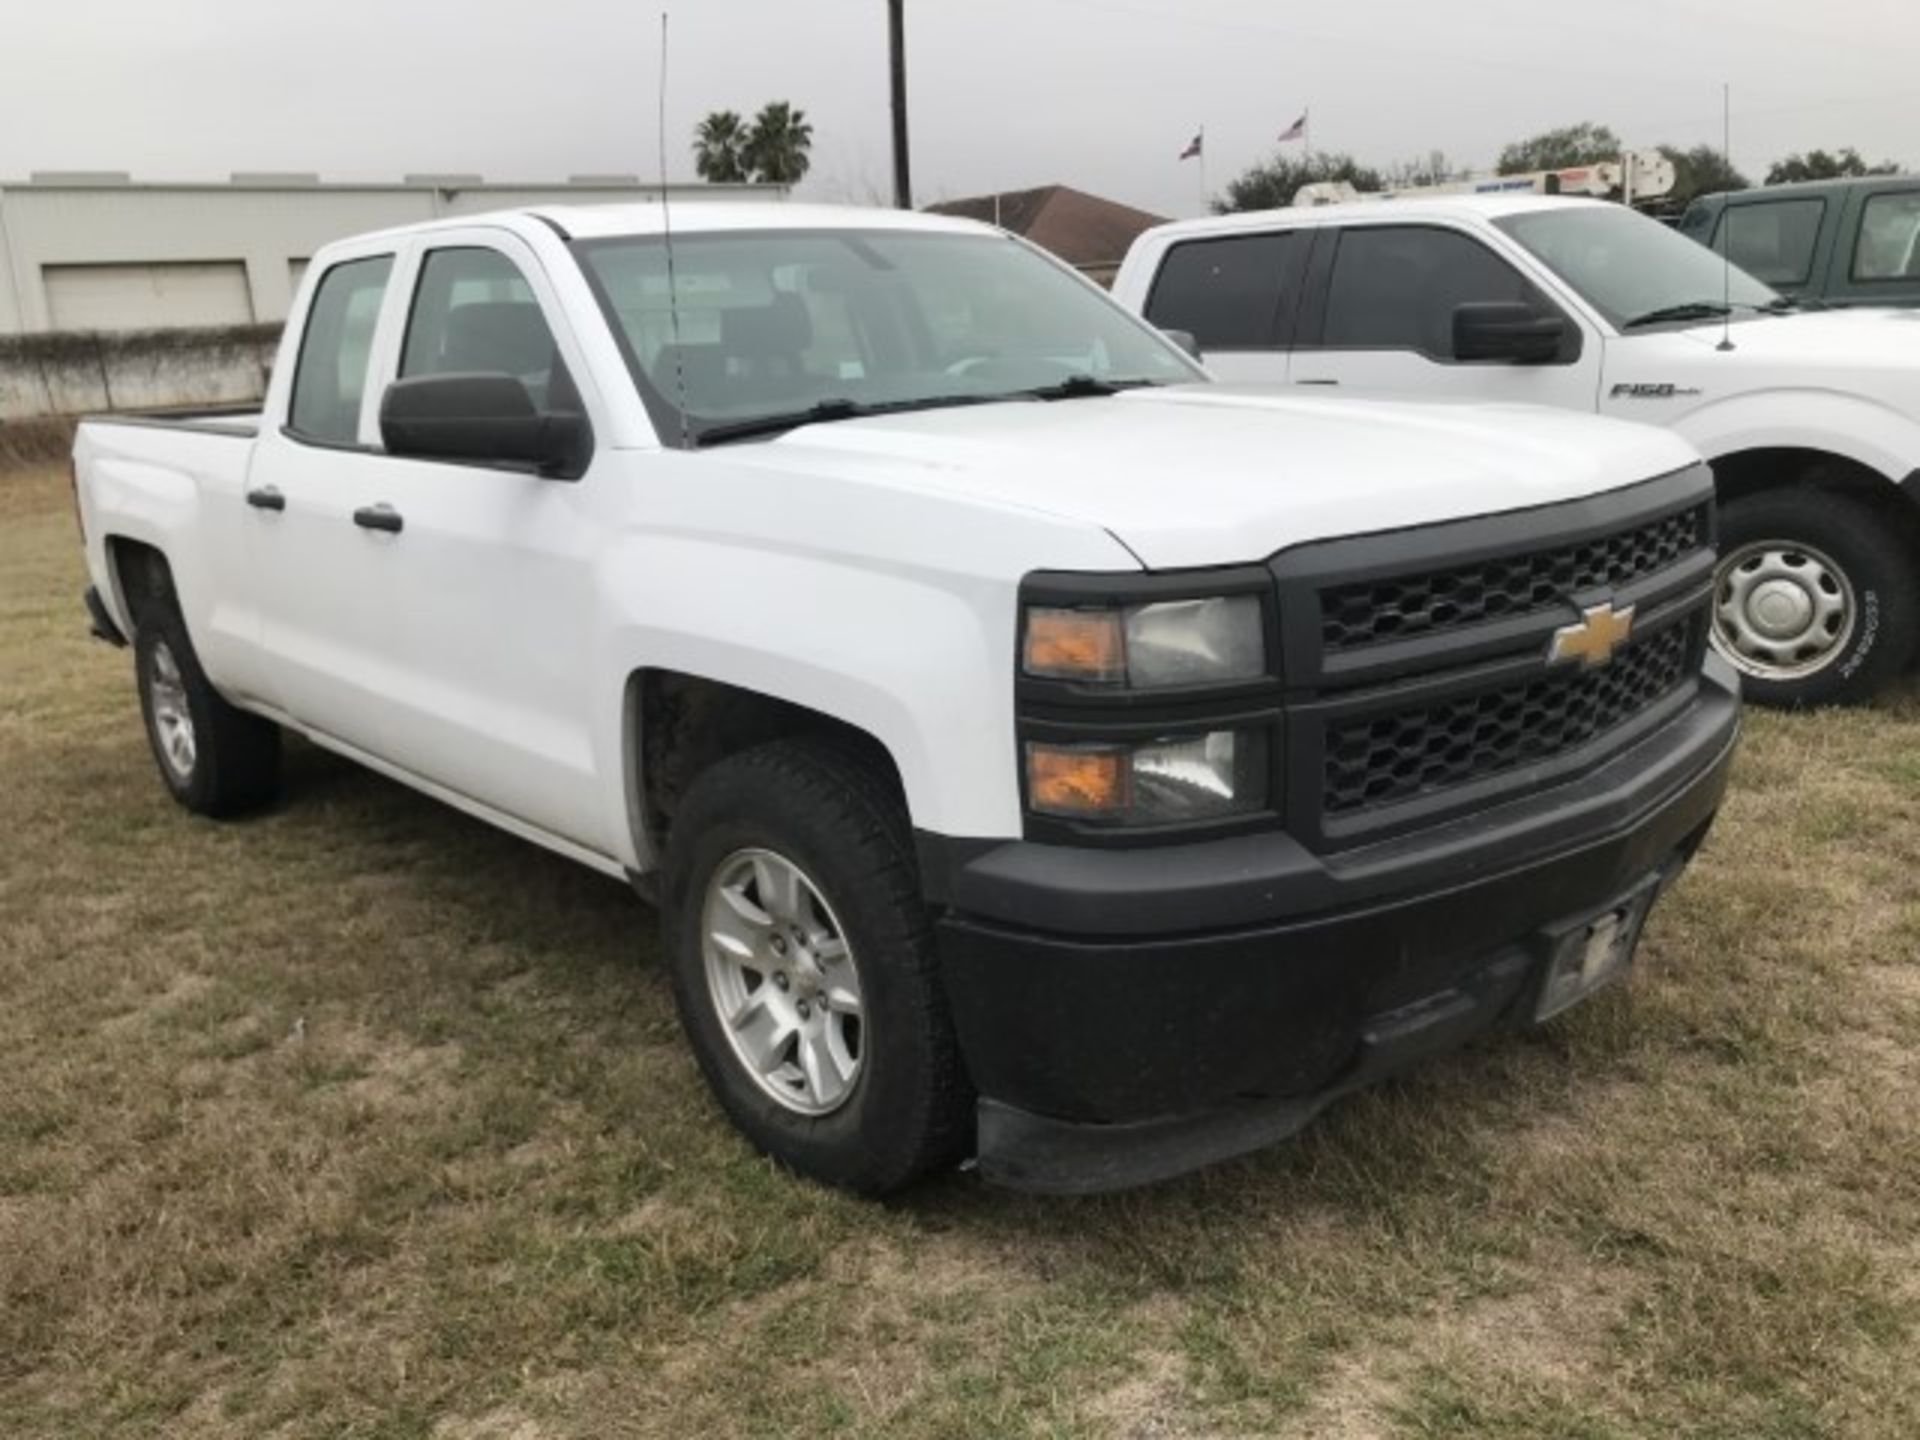
[(257, 417), (75, 444), (159, 774), (284, 730), (632, 881), (758, 1146), (1250, 1150), (1617, 977), (1738, 678), (1670, 432), (1212, 384), (995, 230), (540, 209), (319, 253)]

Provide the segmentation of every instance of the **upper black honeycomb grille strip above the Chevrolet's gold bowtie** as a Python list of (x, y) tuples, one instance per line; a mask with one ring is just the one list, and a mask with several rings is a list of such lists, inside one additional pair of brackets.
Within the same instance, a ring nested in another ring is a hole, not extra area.
[(1321, 643), (1338, 653), (1563, 607), (1578, 591), (1665, 570), (1703, 543), (1709, 522), (1695, 505), (1571, 545), (1332, 586), (1321, 591)]

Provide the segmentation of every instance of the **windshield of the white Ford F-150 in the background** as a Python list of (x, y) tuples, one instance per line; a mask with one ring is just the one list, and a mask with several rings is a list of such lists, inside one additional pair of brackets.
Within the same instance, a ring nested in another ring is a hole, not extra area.
[[(1494, 221), (1615, 326), (1778, 305), (1780, 296), (1705, 246), (1622, 205), (1567, 205)], [(1732, 275), (1724, 275), (1732, 269)]]

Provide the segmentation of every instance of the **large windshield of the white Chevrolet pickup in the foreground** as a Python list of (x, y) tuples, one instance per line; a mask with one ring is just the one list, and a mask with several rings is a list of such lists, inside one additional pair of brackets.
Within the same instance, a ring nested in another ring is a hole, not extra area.
[(674, 438), (684, 428), (693, 444), (781, 420), (1206, 378), (1173, 344), (1006, 236), (674, 236), (674, 307), (660, 236), (574, 250), (626, 340), (655, 424)]

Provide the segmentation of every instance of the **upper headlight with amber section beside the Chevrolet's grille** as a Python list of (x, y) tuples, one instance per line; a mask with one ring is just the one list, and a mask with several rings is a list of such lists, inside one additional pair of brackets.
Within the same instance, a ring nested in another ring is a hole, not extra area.
[(1021, 668), (1041, 680), (1165, 689), (1256, 680), (1267, 672), (1256, 595), (1064, 609), (1025, 614)]

